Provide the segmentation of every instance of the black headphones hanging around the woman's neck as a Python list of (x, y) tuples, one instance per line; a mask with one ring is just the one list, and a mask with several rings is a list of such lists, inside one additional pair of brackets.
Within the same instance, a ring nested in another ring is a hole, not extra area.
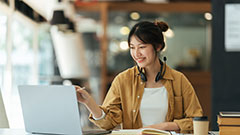
[[(161, 68), (160, 68), (160, 72), (157, 73), (156, 77), (155, 77), (155, 82), (158, 82), (159, 80), (163, 79), (163, 76), (165, 74), (165, 71), (166, 71), (166, 61), (167, 61), (167, 58), (166, 57), (163, 57), (163, 60), (165, 62), (164, 64), (164, 71), (163, 71), (163, 62), (159, 59), (159, 62), (160, 62), (160, 65), (161, 65)], [(147, 76), (142, 72), (142, 68), (140, 69), (139, 66), (137, 66), (138, 68), (138, 72), (142, 79), (143, 82), (146, 82), (147, 81)]]

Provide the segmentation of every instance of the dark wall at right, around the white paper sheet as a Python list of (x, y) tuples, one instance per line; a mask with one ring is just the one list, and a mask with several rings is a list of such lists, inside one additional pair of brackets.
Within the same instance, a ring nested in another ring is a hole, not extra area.
[[(229, 0), (212, 0), (212, 127), (217, 130), (219, 111), (240, 111), (240, 52), (224, 47), (224, 5)], [(234, 0), (240, 3), (240, 0)], [(234, 13), (233, 13), (234, 14)]]

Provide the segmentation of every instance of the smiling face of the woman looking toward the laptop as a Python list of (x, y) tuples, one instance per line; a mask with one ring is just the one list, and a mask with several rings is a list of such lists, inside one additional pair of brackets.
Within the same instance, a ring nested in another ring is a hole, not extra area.
[(136, 36), (130, 40), (130, 53), (139, 67), (144, 68), (154, 63), (156, 53), (151, 44), (144, 44)]

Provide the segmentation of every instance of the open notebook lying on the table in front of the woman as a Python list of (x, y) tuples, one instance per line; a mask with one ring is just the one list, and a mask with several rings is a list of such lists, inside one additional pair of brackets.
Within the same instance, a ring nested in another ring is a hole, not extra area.
[(122, 129), (113, 130), (111, 135), (171, 135), (170, 131), (159, 130), (155, 128), (142, 128), (142, 129)]

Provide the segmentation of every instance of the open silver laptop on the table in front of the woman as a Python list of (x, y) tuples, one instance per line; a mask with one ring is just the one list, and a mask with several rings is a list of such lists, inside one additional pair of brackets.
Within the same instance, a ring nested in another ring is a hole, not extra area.
[[(74, 86), (18, 86), (25, 130), (35, 134), (83, 135)], [(86, 134), (106, 134), (93, 130)]]

